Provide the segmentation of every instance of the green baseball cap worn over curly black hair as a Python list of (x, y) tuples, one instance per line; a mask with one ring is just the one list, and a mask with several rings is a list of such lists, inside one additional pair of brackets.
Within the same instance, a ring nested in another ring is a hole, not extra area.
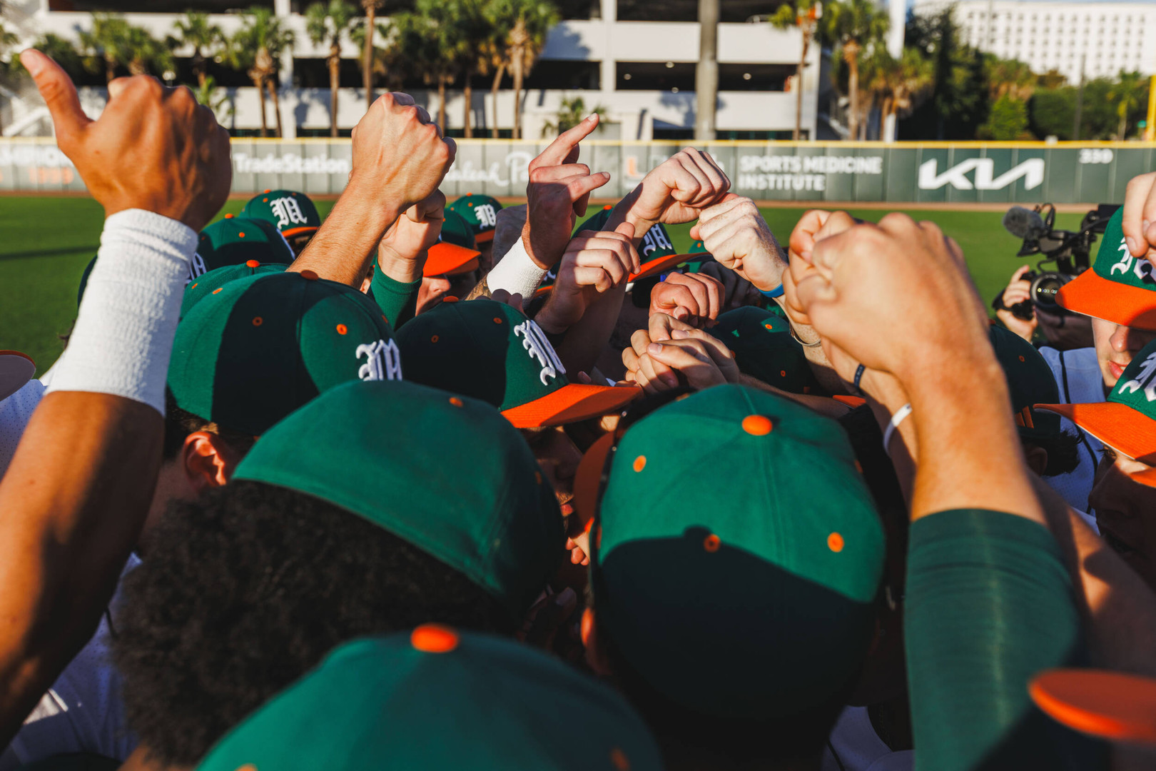
[(521, 621), (563, 554), (534, 453), (489, 405), (354, 380), (269, 429), (235, 479), (341, 506), (460, 571)]

